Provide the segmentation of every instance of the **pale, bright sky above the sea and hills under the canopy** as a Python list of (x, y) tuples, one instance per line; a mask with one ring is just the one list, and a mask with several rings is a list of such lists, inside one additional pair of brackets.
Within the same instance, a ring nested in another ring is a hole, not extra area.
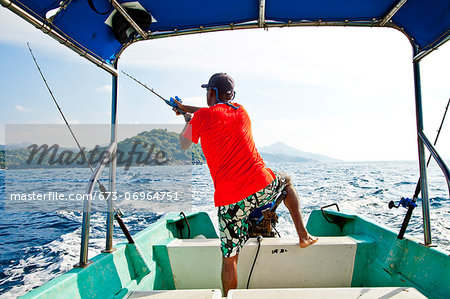
[[(69, 123), (110, 123), (108, 73), (3, 7), (0, 26), (0, 143), (8, 124), (63, 123), (27, 42)], [(125, 50), (119, 69), (196, 106), (206, 106), (201, 84), (230, 74), (258, 147), (282, 141), (345, 161), (417, 159), (412, 50), (393, 29), (252, 29), (144, 41)], [(425, 57), (421, 72), (425, 133), (433, 141), (450, 98), (450, 43)], [(118, 111), (119, 124), (183, 124), (123, 75)], [(436, 148), (449, 164), (450, 120)]]

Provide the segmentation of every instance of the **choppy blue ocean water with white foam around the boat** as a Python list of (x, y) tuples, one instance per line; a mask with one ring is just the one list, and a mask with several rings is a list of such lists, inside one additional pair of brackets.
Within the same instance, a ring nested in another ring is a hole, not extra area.
[[(337, 203), (397, 232), (406, 209), (388, 208), (388, 202), (412, 197), (418, 180), (417, 162), (354, 163), (268, 163), (273, 170), (289, 173), (301, 198), (304, 221), (312, 210)], [(7, 170), (0, 171), (0, 297), (14, 298), (25, 294), (53, 277), (72, 269), (78, 262), (81, 235), (81, 202), (66, 202), (51, 209), (10, 209), (7, 190), (26, 192), (39, 187), (43, 192), (80, 192), (86, 188), (88, 169)], [(117, 190), (145, 190), (154, 177), (154, 167), (118, 170)], [(213, 204), (213, 185), (206, 165), (192, 167), (192, 208), (206, 211), (217, 223)], [(171, 184), (179, 177), (168, 175)], [(107, 185), (106, 178), (102, 181)], [(428, 170), (433, 242), (450, 252), (450, 201), (444, 176), (432, 164)], [(123, 206), (124, 221), (136, 233), (157, 221), (164, 213), (146, 209), (144, 204)], [(187, 211), (187, 210), (186, 210)], [(295, 236), (287, 209), (281, 205), (277, 226), (282, 236)], [(94, 207), (91, 218), (89, 256), (105, 246), (106, 215)], [(421, 205), (413, 214), (407, 237), (423, 240)], [(114, 242), (125, 241), (120, 229), (114, 228)]]

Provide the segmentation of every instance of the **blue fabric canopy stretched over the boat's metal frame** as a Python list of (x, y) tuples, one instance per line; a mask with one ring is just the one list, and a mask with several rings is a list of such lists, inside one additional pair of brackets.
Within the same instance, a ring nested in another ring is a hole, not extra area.
[[(393, 27), (416, 48), (415, 60), (450, 36), (449, 0), (0, 0), (45, 33), (99, 66), (112, 66), (137, 40), (244, 28), (285, 26)], [(128, 3), (128, 4), (127, 4)], [(140, 5), (148, 29), (121, 44), (107, 20), (118, 8)], [(119, 6), (119, 7), (118, 7)], [(106, 14), (101, 14), (107, 12)]]

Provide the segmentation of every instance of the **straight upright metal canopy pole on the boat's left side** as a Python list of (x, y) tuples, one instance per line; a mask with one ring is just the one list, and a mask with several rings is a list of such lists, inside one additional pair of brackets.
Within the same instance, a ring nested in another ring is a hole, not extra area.
[[(117, 70), (118, 59), (114, 62), (114, 68)], [(117, 95), (118, 95), (119, 76), (112, 76), (112, 96), (111, 96), (111, 143), (117, 145)], [(116, 192), (116, 166), (117, 166), (117, 147), (112, 153), (113, 159), (109, 165), (109, 196), (108, 212), (106, 217), (106, 248), (102, 252), (110, 253), (115, 251), (113, 248), (113, 228), (114, 228), (114, 198)]]

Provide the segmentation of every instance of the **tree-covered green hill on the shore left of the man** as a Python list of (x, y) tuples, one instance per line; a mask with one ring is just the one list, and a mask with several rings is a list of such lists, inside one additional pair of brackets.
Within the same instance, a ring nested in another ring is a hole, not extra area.
[[(180, 149), (178, 133), (165, 129), (144, 131), (118, 143), (117, 165), (119, 167), (203, 164), (205, 157), (199, 145), (193, 144), (187, 151)], [(85, 150), (93, 167), (105, 146)], [(0, 156), (1, 161), (1, 156)], [(31, 145), (27, 148), (6, 152), (8, 169), (24, 168), (73, 168), (88, 167), (79, 150), (59, 148), (57, 145)]]

